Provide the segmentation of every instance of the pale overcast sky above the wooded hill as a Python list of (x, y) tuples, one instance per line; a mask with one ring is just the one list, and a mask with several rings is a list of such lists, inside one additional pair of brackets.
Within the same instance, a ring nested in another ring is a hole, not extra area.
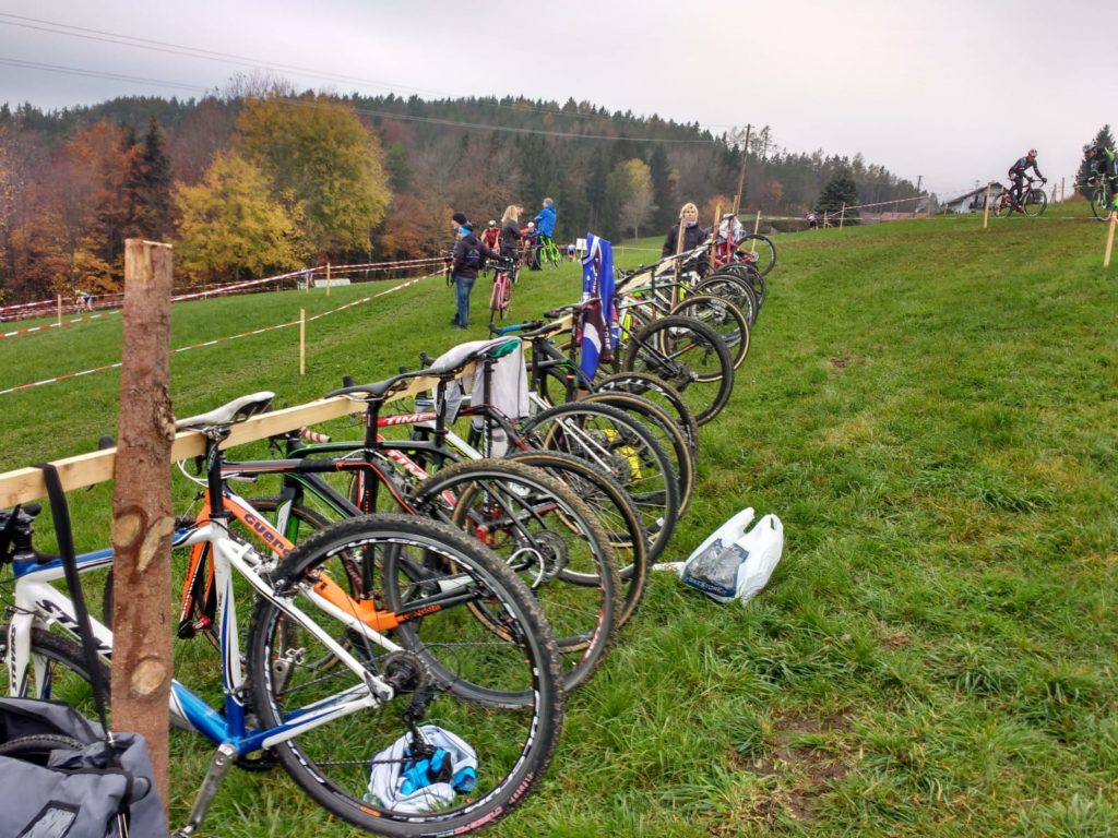
[(1118, 122), (1116, 34), (1114, 0), (0, 0), (0, 102), (200, 96), (284, 65), (301, 89), (769, 125), (778, 146), (861, 152), (948, 198), (1030, 146), (1070, 188)]

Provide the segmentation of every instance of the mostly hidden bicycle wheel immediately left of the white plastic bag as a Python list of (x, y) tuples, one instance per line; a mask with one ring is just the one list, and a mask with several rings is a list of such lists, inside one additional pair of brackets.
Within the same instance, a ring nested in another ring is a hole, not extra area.
[[(546, 472), (570, 488), (594, 513), (609, 540), (617, 560), (622, 582), (622, 609), (618, 628), (635, 613), (648, 585), (648, 535), (633, 502), (616, 480), (595, 469), (589, 463), (560, 451), (515, 451), (509, 458)], [(563, 569), (566, 582), (597, 584), (594, 574)]]

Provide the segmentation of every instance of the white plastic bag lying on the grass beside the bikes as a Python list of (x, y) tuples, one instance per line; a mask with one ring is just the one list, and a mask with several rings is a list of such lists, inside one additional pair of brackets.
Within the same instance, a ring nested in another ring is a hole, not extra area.
[(752, 530), (752, 507), (735, 515), (700, 544), (680, 569), (680, 578), (718, 602), (746, 602), (766, 584), (784, 552), (784, 524), (762, 517)]

